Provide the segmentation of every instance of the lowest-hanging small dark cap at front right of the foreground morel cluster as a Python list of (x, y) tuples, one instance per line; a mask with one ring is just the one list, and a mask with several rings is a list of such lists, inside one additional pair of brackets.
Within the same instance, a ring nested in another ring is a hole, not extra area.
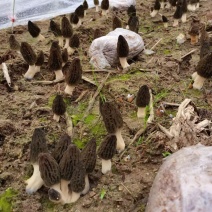
[(85, 167), (81, 161), (78, 162), (74, 168), (70, 184), (68, 185), (69, 190), (80, 193), (85, 188)]

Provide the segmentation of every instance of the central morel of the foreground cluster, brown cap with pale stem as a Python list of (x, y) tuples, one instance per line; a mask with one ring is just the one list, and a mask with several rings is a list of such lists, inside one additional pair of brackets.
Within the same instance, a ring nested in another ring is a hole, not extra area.
[[(72, 197), (72, 194), (70, 194), (69, 192), (68, 184), (70, 183), (70, 180), (74, 173), (74, 169), (79, 163), (80, 163), (80, 151), (75, 145), (71, 144), (69, 145), (68, 149), (64, 152), (63, 157), (59, 163), (61, 171), (61, 190), (64, 196), (65, 203), (70, 203), (71, 201), (70, 199)], [(85, 183), (85, 176), (83, 180)]]

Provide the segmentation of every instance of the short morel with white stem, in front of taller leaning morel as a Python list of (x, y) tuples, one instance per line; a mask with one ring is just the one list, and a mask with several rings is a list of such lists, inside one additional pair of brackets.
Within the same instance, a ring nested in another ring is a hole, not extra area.
[(102, 159), (102, 173), (111, 170), (111, 159), (116, 153), (117, 138), (115, 135), (107, 135), (99, 146), (98, 156)]

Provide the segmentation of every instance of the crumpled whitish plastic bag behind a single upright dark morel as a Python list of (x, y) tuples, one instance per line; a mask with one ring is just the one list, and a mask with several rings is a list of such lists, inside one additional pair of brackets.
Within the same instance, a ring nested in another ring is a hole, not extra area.
[(127, 29), (117, 28), (105, 36), (95, 39), (90, 48), (90, 63), (95, 68), (111, 68), (118, 64), (117, 42), (118, 36), (123, 35), (129, 45), (129, 56), (131, 59), (144, 49), (144, 41), (140, 35)]

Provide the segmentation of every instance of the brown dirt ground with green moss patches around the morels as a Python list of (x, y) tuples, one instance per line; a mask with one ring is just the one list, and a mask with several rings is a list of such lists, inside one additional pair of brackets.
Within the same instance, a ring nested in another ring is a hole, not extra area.
[[(43, 127), (51, 152), (58, 138), (66, 132), (66, 121), (62, 118), (59, 123), (53, 121), (51, 110), (52, 101), (57, 92), (61, 92), (67, 104), (67, 112), (74, 124), (72, 141), (83, 148), (90, 138), (95, 137), (99, 144), (106, 130), (99, 115), (98, 97), (94, 107), (85, 120), (79, 124), (86, 111), (89, 101), (107, 76), (107, 72), (95, 72), (89, 64), (88, 49), (93, 40), (94, 29), (99, 28), (103, 34), (112, 29), (112, 12), (109, 18), (95, 14), (94, 9), (88, 10), (84, 18), (84, 24), (77, 29), (80, 35), (80, 48), (74, 56), (81, 59), (83, 75), (93, 80), (97, 86), (82, 81), (76, 88), (73, 97), (63, 93), (64, 82), (54, 85), (41, 85), (35, 83), (38, 80), (53, 80), (54, 75), (48, 70), (48, 55), (51, 42), (55, 37), (49, 29), (49, 20), (37, 22), (45, 36), (43, 42), (37, 43), (27, 32), (26, 26), (17, 26), (14, 29), (18, 41), (29, 42), (36, 52), (43, 50), (45, 64), (32, 81), (26, 81), (23, 74), (27, 70), (27, 64), (20, 55), (13, 52), (15, 58), (6, 61), (9, 74), (17, 90), (9, 89), (0, 73), (0, 211), (8, 212), (35, 212), (35, 211), (145, 211), (148, 194), (154, 177), (163, 161), (170, 154), (165, 142), (166, 136), (157, 139), (160, 123), (167, 128), (177, 111), (177, 107), (168, 107), (161, 113), (161, 103), (170, 102), (180, 104), (185, 98), (191, 98), (197, 107), (212, 109), (212, 81), (207, 80), (201, 91), (190, 88), (191, 74), (199, 61), (199, 43), (190, 44), (188, 35), (192, 16), (198, 17), (202, 22), (206, 20), (206, 13), (212, 8), (211, 0), (200, 1), (200, 8), (195, 13), (188, 13), (188, 21), (180, 23), (173, 28), (172, 15), (174, 10), (161, 10), (169, 19), (169, 27), (165, 29), (161, 16), (151, 18), (149, 11), (152, 2), (137, 1), (137, 14), (140, 20), (139, 33), (142, 36), (147, 49), (153, 47), (157, 41), (162, 40), (154, 48), (155, 54), (145, 55), (140, 53), (137, 58), (130, 61), (131, 69), (122, 73), (113, 68), (117, 73), (111, 73), (101, 93), (110, 101), (115, 101), (122, 113), (124, 120), (123, 137), (126, 146), (132, 141), (140, 129), (145, 128), (144, 120), (136, 118), (135, 101), (127, 100), (128, 94), (136, 95), (141, 85), (147, 84), (153, 91), (155, 121), (126, 148), (124, 154), (116, 154), (112, 160), (112, 172), (101, 174), (100, 159), (94, 172), (90, 174), (91, 190), (81, 197), (76, 203), (57, 205), (48, 200), (48, 189), (42, 187), (33, 195), (25, 192), (25, 180), (32, 174), (29, 162), (29, 145), (32, 133), (36, 127)], [(117, 16), (126, 26), (128, 17), (126, 11), (118, 12)], [(54, 20), (59, 21), (60, 17)], [(186, 42), (177, 44), (176, 37), (184, 33)], [(0, 31), (0, 55), (8, 51), (8, 38), (10, 29)], [(197, 49), (190, 60), (190, 64), (179, 66), (181, 57), (193, 49)], [(93, 71), (92, 71), (93, 70)], [(87, 91), (80, 101), (75, 101), (82, 92)], [(11, 191), (10, 194), (8, 194)], [(6, 195), (9, 195), (7, 198)], [(3, 209), (1, 209), (1, 207)], [(5, 209), (7, 208), (7, 209)]]

